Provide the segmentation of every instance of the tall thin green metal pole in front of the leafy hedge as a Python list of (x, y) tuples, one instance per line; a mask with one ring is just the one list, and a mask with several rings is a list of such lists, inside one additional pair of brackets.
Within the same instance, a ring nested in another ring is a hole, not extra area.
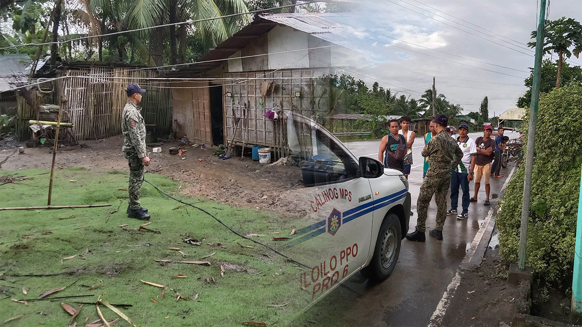
[(534, 82), (531, 88), (530, 126), (527, 130), (526, 175), (523, 181), (523, 202), (521, 207), (521, 230), (519, 235), (519, 269), (526, 268), (527, 222), (530, 218), (531, 173), (534, 166), (535, 123), (538, 120), (538, 102), (540, 101), (540, 75), (542, 57), (544, 56), (545, 6), (546, 0), (540, 1), (540, 20), (535, 38)]

